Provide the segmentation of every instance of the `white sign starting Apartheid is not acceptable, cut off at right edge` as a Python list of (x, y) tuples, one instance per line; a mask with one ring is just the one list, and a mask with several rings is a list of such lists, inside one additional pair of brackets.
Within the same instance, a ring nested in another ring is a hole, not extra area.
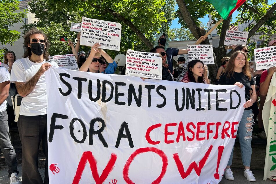
[(254, 49), (256, 69), (263, 70), (276, 66), (276, 46)]

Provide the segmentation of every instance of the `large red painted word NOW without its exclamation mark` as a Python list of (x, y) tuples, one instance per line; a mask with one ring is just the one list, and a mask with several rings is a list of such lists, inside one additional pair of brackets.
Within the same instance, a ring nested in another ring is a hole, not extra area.
[[(199, 176), (200, 173), (201, 173), (201, 170), (202, 168), (204, 167), (209, 155), (210, 155), (210, 152), (212, 151), (212, 148), (213, 148), (213, 145), (211, 145), (209, 147), (209, 149), (206, 151), (205, 155), (203, 156), (203, 158), (199, 161), (199, 163), (197, 164), (195, 161), (192, 162), (187, 170), (185, 171), (184, 169), (184, 166), (178, 156), (178, 154), (173, 154), (173, 158), (174, 158), (174, 161), (176, 163), (176, 166), (177, 166), (177, 169), (178, 169), (178, 172), (179, 174), (181, 175), (181, 178), (186, 178), (187, 176), (190, 175), (190, 173), (192, 172), (192, 170), (194, 169), (194, 171), (196, 172), (196, 174)], [(168, 166), (168, 158), (166, 156), (166, 154), (160, 150), (160, 149), (157, 149), (157, 148), (154, 148), (154, 147), (146, 147), (146, 148), (139, 148), (137, 149), (136, 151), (134, 151), (134, 153), (132, 153), (130, 155), (130, 157), (128, 158), (124, 168), (123, 168), (123, 178), (125, 180), (126, 183), (128, 184), (134, 184), (133, 181), (131, 181), (131, 179), (129, 178), (129, 166), (131, 164), (131, 162), (135, 159), (135, 157), (139, 154), (142, 154), (142, 153), (146, 153), (146, 152), (153, 152), (155, 153), (156, 155), (160, 156), (160, 158), (162, 159), (162, 169), (161, 169), (161, 173), (160, 175), (152, 182), (152, 184), (157, 184), (157, 183), (160, 183), (163, 176), (165, 175), (166, 171), (167, 171), (167, 166)], [(80, 158), (80, 162), (79, 162), (79, 165), (77, 167), (77, 171), (76, 171), (76, 174), (75, 174), (75, 177), (73, 179), (73, 184), (78, 184), (80, 182), (80, 179), (82, 177), (82, 173), (84, 171), (84, 167), (86, 165), (86, 163), (88, 162), (89, 163), (89, 166), (90, 166), (90, 169), (91, 169), (91, 172), (92, 172), (92, 176), (95, 180), (95, 183), (96, 184), (102, 184), (107, 176), (110, 174), (110, 172), (113, 170), (113, 167), (115, 165), (115, 162), (117, 160), (117, 155), (112, 153), (111, 156), (110, 156), (110, 159), (106, 165), (106, 167), (104, 168), (104, 170), (102, 171), (102, 174), (99, 176), (98, 174), (98, 168), (97, 168), (97, 161), (96, 159), (94, 158), (93, 154), (91, 151), (85, 151), (83, 154), (82, 154), (82, 157)]]

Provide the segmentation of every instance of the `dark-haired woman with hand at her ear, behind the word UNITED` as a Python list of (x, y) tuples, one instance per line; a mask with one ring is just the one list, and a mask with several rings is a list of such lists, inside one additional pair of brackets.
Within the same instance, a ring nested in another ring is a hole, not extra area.
[(185, 73), (181, 82), (210, 84), (207, 76), (207, 66), (199, 59), (190, 61), (188, 64), (188, 72)]

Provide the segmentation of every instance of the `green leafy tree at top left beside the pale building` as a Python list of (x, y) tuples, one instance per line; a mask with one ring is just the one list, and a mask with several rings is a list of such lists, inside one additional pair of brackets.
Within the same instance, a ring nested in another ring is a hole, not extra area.
[[(19, 10), (18, 0), (2, 0), (0, 1), (0, 42), (1, 44), (13, 44), (20, 38), (20, 33), (10, 29), (13, 24), (22, 22), (25, 17), (24, 12), (15, 12)], [(3, 51), (0, 51), (2, 54)]]

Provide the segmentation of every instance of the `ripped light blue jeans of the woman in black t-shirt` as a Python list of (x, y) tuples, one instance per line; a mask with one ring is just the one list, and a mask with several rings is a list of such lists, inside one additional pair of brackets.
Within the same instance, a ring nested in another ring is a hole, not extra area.
[[(250, 167), (250, 161), (251, 161), (251, 154), (252, 154), (252, 148), (251, 148), (251, 139), (252, 139), (252, 126), (253, 126), (253, 113), (252, 109), (245, 110), (243, 112), (239, 128), (237, 131), (237, 135), (239, 135), (239, 143), (241, 145), (241, 159), (244, 166)], [(232, 158), (233, 158), (233, 151), (234, 147), (232, 149), (231, 156), (229, 158), (227, 165), (232, 165)]]

